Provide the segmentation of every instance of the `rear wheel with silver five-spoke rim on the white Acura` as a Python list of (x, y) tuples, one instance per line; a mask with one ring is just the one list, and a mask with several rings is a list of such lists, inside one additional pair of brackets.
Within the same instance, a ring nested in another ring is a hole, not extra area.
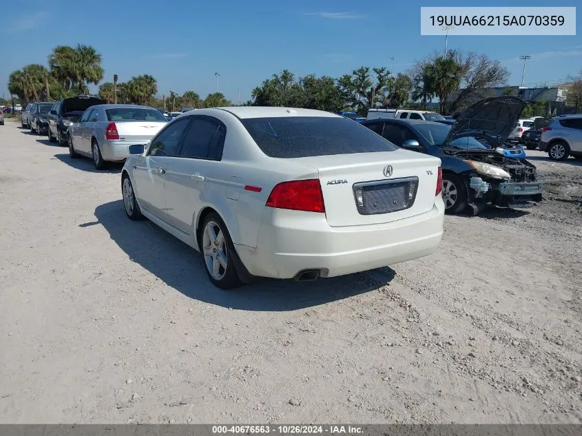
[(200, 251), (210, 281), (219, 289), (233, 289), (242, 284), (236, 271), (237, 256), (225, 223), (211, 212), (202, 224)]

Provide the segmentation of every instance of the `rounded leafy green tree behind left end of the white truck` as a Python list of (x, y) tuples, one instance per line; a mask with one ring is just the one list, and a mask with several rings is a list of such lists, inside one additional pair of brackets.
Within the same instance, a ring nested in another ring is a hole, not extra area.
[(384, 101), (392, 90), (393, 79), (388, 69), (372, 68), (372, 71), (375, 77), (370, 68), (360, 67), (337, 79), (342, 99), (361, 115), (366, 115), (375, 102)]

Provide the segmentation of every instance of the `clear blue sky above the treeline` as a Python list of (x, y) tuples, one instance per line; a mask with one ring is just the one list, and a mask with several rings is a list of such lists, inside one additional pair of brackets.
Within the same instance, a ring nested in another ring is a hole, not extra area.
[[(558, 6), (576, 6), (561, 1)], [(493, 1), (487, 6), (548, 6)], [(105, 81), (139, 74), (158, 80), (158, 94), (219, 90), (233, 102), (284, 68), (304, 75), (341, 76), (361, 65), (402, 72), (415, 59), (443, 50), (444, 36), (420, 35), (420, 6), (468, 6), (464, 1), (6, 1), (2, 5), (0, 94), (8, 76), (28, 63), (46, 64), (56, 45), (93, 45), (103, 55)], [(481, 6), (475, 4), (475, 6)], [(581, 8), (579, 8), (581, 10)], [(526, 85), (565, 79), (582, 70), (582, 32), (570, 37), (451, 36), (449, 48), (485, 53), (521, 82), (520, 54), (530, 54)]]

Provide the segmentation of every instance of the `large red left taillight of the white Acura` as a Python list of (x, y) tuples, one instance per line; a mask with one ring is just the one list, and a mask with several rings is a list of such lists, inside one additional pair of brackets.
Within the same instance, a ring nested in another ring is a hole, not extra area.
[(320, 180), (291, 180), (276, 185), (267, 198), (268, 207), (306, 212), (325, 212)]

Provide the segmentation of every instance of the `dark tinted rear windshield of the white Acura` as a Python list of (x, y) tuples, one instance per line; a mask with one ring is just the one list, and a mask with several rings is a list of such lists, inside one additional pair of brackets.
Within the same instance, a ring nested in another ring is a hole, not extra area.
[(271, 158), (391, 152), (393, 143), (344, 117), (285, 116), (241, 120), (261, 151)]

